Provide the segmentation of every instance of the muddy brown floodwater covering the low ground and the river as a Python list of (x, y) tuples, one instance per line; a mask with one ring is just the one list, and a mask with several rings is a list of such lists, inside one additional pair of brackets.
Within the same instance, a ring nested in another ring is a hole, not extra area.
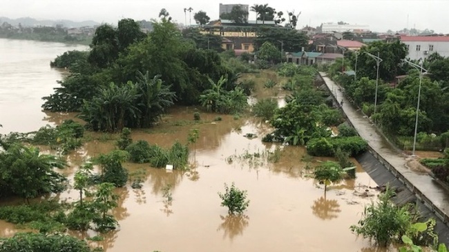
[[(50, 94), (61, 78), (48, 62), (73, 49), (59, 43), (0, 39), (0, 133), (32, 131), (75, 116), (40, 110), (41, 96)], [(327, 158), (312, 159), (302, 147), (280, 146), (278, 162), (269, 162), (267, 151), (274, 151), (276, 145), (260, 141), (269, 132), (268, 125), (249, 116), (234, 120), (221, 115), (222, 120), (214, 121), (217, 115), (205, 112), (200, 122), (194, 122), (195, 111), (175, 107), (160, 125), (133, 131), (134, 140), (164, 147), (176, 139), (187, 143), (193, 128), (199, 129), (200, 138), (190, 148), (190, 170), (124, 165), (131, 172), (146, 171), (144, 187), (116, 190), (120, 202), (114, 215), (120, 228), (98, 242), (106, 251), (375, 251), (368, 240), (356, 238), (349, 229), (361, 218), (364, 205), (376, 199), (369, 188), (376, 183), (361, 167), (355, 180), (332, 185), (325, 194), (306, 167)], [(247, 133), (258, 137), (245, 138)], [(69, 177), (90, 156), (115, 148), (116, 135), (88, 134), (93, 140), (68, 156), (70, 167), (64, 173)], [(242, 216), (229, 216), (220, 207), (218, 191), (232, 182), (247, 190), (250, 200)], [(164, 197), (164, 188), (170, 188), (171, 202)], [(76, 200), (77, 192), (66, 191), (59, 198)], [(13, 225), (0, 221), (0, 235), (15, 231)]]

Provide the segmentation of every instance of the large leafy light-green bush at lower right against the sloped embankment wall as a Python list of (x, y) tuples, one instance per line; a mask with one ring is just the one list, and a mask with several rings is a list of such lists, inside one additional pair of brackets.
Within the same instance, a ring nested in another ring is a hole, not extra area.
[(357, 225), (351, 226), (351, 231), (363, 238), (374, 240), (379, 246), (388, 246), (398, 241), (410, 229), (414, 216), (409, 206), (396, 207), (391, 201), (393, 192), (387, 188), (379, 196), (379, 201), (365, 207), (363, 217)]

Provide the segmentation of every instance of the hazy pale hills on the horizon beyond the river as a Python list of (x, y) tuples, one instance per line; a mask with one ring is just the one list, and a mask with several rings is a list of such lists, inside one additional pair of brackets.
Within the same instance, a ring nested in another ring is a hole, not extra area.
[(66, 28), (79, 28), (79, 27), (83, 27), (83, 26), (100, 25), (100, 23), (92, 21), (92, 20), (77, 22), (77, 21), (71, 21), (71, 20), (66, 20), (66, 19), (37, 20), (37, 19), (32, 19), (30, 17), (21, 17), (19, 19), (10, 19), (8, 17), (0, 17), (0, 25), (3, 22), (8, 22), (13, 26), (18, 26), (20, 23), (23, 27), (33, 27), (33, 26), (37, 26), (37, 25), (41, 25), (41, 26), (62, 25)]

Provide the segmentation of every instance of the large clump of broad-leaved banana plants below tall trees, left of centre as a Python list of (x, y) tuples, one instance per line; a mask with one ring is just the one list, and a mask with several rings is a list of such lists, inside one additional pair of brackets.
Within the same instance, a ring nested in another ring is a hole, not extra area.
[(121, 87), (110, 83), (91, 101), (85, 101), (80, 118), (94, 130), (117, 132), (124, 127), (149, 127), (164, 109), (173, 105), (174, 92), (162, 84), (160, 76), (137, 73), (137, 83)]

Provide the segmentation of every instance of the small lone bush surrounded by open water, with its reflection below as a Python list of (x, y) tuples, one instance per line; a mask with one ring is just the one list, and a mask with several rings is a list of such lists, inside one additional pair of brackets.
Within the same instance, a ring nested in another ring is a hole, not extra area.
[(222, 200), (222, 207), (228, 208), (229, 214), (243, 213), (249, 206), (249, 200), (247, 200), (247, 191), (238, 189), (234, 183), (231, 187), (225, 184), (225, 193), (218, 193)]

